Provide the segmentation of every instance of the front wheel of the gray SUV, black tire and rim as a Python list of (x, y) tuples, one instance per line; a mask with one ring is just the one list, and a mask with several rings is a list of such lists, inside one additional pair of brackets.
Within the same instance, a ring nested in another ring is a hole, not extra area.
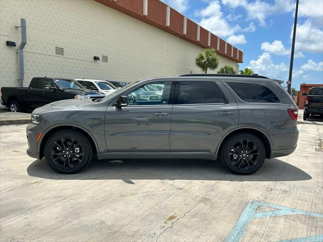
[(63, 174), (73, 174), (82, 170), (90, 163), (92, 153), (90, 141), (77, 131), (59, 131), (51, 135), (44, 146), (47, 164)]

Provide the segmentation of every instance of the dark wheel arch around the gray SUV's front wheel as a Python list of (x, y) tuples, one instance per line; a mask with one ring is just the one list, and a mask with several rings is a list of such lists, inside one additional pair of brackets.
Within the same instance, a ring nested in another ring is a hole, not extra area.
[(89, 131), (87, 131), (83, 127), (80, 127), (77, 125), (68, 125), (68, 124), (65, 125), (64, 124), (64, 125), (52, 126), (52, 127), (48, 128), (42, 134), (41, 139), (39, 140), (39, 143), (38, 143), (38, 147), (37, 147), (37, 149), (38, 149), (37, 153), (39, 154), (39, 159), (41, 159), (44, 156), (44, 146), (46, 144), (46, 141), (49, 139), (49, 137), (52, 134), (62, 131), (62, 130), (74, 130), (74, 131), (80, 132), (82, 135), (84, 135), (89, 140), (94, 153), (98, 153), (97, 143)]

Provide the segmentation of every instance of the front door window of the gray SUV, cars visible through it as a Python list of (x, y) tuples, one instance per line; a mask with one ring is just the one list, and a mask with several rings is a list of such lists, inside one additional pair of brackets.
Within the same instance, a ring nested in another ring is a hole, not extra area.
[[(166, 105), (169, 101), (172, 82), (158, 82), (163, 91), (149, 89), (151, 84), (145, 84), (127, 94), (129, 105)], [(153, 91), (149, 91), (153, 90)]]

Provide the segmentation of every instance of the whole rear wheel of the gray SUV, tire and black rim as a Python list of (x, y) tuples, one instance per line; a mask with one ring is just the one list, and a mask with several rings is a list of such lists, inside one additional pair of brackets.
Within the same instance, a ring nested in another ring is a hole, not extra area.
[(257, 136), (250, 133), (241, 133), (225, 141), (220, 157), (222, 164), (232, 173), (249, 175), (263, 165), (266, 150)]

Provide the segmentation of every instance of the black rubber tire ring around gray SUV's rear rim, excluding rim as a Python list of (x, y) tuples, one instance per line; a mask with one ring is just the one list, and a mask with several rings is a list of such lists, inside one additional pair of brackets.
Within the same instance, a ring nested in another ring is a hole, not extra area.
[[(234, 165), (230, 161), (228, 154), (230, 153), (232, 146), (239, 140), (250, 140), (259, 147), (259, 151), (260, 151), (259, 161), (253, 168), (249, 170), (239, 170), (236, 167), (234, 167)], [(238, 175), (249, 175), (256, 172), (263, 165), (265, 158), (266, 158), (266, 150), (265, 150), (264, 144), (257, 136), (253, 134), (246, 133), (246, 134), (238, 134), (238, 135), (232, 136), (226, 141), (226, 143), (223, 146), (223, 149), (221, 150), (221, 161), (223, 165), (231, 172)]]

